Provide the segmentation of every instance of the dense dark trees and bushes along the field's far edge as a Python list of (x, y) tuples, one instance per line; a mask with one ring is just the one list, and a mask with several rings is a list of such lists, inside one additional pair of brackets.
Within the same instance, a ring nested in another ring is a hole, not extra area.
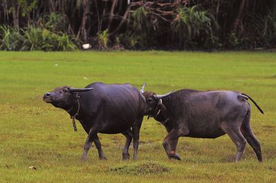
[(273, 0), (0, 0), (0, 24), (0, 50), (276, 47)]

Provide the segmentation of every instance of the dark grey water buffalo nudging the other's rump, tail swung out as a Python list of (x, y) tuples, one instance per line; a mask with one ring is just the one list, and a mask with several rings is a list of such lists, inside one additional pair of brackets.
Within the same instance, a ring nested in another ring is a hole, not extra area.
[(168, 158), (180, 160), (176, 148), (181, 136), (192, 138), (217, 138), (225, 133), (237, 146), (235, 161), (242, 158), (246, 142), (254, 149), (257, 159), (262, 162), (259, 140), (250, 127), (250, 104), (253, 101), (259, 111), (262, 109), (255, 101), (239, 92), (206, 91), (181, 89), (165, 95), (152, 92), (141, 93), (146, 98), (146, 113), (166, 127), (168, 135), (163, 146)]

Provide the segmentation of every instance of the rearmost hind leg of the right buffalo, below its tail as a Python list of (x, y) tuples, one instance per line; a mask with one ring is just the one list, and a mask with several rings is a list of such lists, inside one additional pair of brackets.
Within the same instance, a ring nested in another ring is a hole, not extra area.
[(241, 127), (242, 134), (246, 138), (248, 144), (250, 144), (250, 147), (253, 148), (257, 155), (257, 159), (259, 162), (262, 162), (262, 151), (261, 151), (261, 144), (259, 140), (255, 137), (252, 128), (250, 126), (250, 110), (246, 114), (246, 117), (244, 118), (244, 121), (242, 122)]

